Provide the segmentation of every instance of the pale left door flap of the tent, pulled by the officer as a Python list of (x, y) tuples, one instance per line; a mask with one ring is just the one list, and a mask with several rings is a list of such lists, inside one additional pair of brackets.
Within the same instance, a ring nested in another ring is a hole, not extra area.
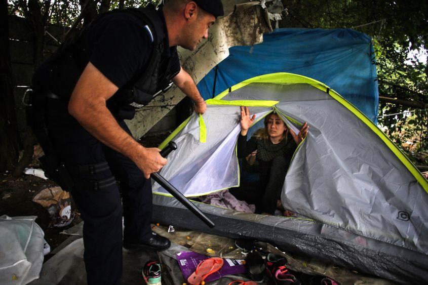
[[(259, 119), (272, 110), (271, 107), (250, 107), (250, 111)], [(174, 138), (177, 150), (168, 156), (169, 162), (161, 175), (186, 197), (207, 195), (238, 186), (236, 140), (241, 128), (238, 119), (240, 112), (239, 105), (208, 105), (203, 114), (205, 143), (200, 140), (199, 115), (193, 114)], [(153, 192), (167, 194), (156, 183)]]

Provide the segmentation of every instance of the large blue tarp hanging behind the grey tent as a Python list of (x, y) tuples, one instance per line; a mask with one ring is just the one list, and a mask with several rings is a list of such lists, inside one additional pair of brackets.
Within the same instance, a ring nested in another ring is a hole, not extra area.
[[(326, 84), (377, 121), (379, 94), (374, 53), (368, 35), (352, 29), (276, 29), (254, 47), (233, 47), (217, 66), (214, 95), (245, 79), (290, 72)], [(213, 97), (215, 68), (198, 84)]]

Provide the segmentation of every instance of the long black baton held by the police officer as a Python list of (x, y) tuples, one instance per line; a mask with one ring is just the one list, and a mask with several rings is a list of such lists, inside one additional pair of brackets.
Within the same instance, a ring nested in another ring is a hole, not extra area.
[[(177, 144), (175, 142), (169, 142), (169, 144), (160, 152), (160, 154), (165, 157), (171, 151), (177, 149)], [(178, 191), (174, 186), (171, 185), (165, 178), (163, 178), (159, 173), (152, 173), (150, 177), (159, 183), (165, 190), (170, 192), (174, 198), (176, 198), (184, 207), (190, 210), (194, 215), (196, 215), (200, 220), (207, 224), (210, 228), (213, 228), (215, 225), (204, 213), (201, 212), (196, 206), (193, 205), (180, 191)]]

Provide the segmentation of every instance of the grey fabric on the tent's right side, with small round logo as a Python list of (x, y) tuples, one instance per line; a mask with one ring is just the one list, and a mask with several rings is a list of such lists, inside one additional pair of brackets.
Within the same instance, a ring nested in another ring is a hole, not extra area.
[(241, 89), (245, 97), (224, 99), (263, 94), (281, 100), (275, 106), (280, 115), (310, 126), (285, 179), (281, 198), (286, 209), (428, 254), (421, 236), (428, 233), (423, 217), (428, 195), (357, 116), (307, 84), (249, 84)]

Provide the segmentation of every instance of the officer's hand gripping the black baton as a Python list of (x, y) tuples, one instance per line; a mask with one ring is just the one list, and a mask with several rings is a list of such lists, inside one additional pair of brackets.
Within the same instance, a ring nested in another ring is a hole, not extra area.
[(138, 168), (144, 173), (145, 178), (150, 178), (150, 174), (158, 172), (164, 167), (168, 160), (161, 156), (159, 148), (143, 148), (141, 155), (134, 160)]

